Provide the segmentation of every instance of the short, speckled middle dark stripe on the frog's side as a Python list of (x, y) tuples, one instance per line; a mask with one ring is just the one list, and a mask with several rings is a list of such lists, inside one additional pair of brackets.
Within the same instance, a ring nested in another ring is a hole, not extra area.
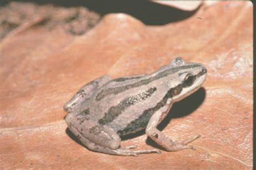
[(125, 108), (130, 107), (140, 101), (145, 100), (146, 98), (150, 97), (155, 91), (157, 90), (156, 87), (151, 87), (149, 90), (136, 94), (134, 96), (126, 97), (122, 100), (118, 105), (110, 107), (109, 111), (105, 113), (104, 117), (98, 121), (101, 125), (106, 125), (111, 123), (114, 118), (116, 118)]

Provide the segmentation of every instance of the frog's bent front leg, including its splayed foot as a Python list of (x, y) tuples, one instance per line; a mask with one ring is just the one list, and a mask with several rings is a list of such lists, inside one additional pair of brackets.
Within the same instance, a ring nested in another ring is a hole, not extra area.
[[(171, 104), (170, 104), (171, 105)], [(196, 135), (191, 139), (186, 141), (173, 141), (165, 134), (157, 130), (157, 125), (163, 120), (166, 114), (169, 112), (170, 106), (166, 105), (161, 110), (158, 110), (152, 115), (149, 123), (146, 127), (146, 134), (149, 135), (151, 139), (157, 142), (160, 146), (163, 146), (167, 151), (179, 151), (182, 149), (195, 149), (194, 146), (187, 145), (190, 142), (196, 140), (200, 135)]]

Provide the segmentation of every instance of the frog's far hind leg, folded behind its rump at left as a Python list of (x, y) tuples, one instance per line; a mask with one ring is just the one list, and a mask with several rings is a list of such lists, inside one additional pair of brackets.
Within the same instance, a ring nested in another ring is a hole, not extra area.
[(112, 78), (109, 75), (99, 77), (92, 80), (90, 83), (85, 84), (78, 92), (64, 105), (64, 110), (68, 113), (76, 110), (89, 98), (95, 89), (109, 82)]

